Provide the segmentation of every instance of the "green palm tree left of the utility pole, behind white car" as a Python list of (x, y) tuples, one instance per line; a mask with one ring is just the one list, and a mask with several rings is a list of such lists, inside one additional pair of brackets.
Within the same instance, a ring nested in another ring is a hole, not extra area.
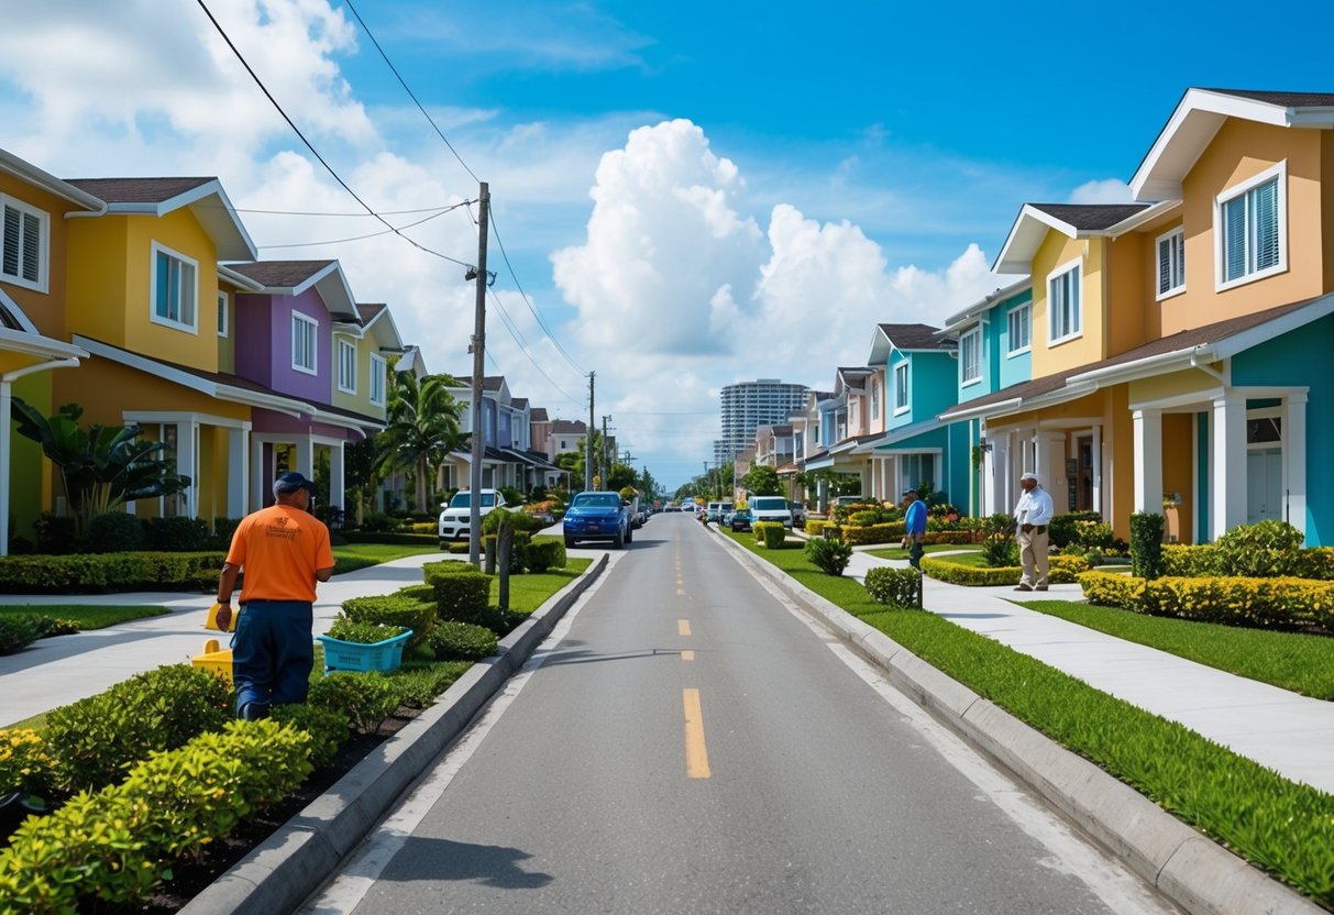
[(416, 474), (415, 502), (420, 512), (428, 511), (427, 478), (468, 440), (459, 425), (463, 405), (448, 391), (454, 384), (448, 375), (427, 375), (420, 380), (411, 372), (400, 375), (390, 395), (388, 424), (376, 436), (383, 472)]

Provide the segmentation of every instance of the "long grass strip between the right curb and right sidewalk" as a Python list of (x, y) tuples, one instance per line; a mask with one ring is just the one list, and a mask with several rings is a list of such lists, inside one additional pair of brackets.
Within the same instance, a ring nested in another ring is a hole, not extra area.
[(930, 612), (875, 603), (800, 550), (756, 550), (932, 667), (1094, 762), (1163, 810), (1325, 907), (1334, 907), (1334, 795)]

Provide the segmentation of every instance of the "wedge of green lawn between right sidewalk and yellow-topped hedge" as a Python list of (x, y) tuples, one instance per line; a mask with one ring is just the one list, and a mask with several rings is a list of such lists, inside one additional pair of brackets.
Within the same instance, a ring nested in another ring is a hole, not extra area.
[(1303, 696), (1334, 699), (1330, 636), (1147, 616), (1069, 600), (1031, 600), (1022, 606)]

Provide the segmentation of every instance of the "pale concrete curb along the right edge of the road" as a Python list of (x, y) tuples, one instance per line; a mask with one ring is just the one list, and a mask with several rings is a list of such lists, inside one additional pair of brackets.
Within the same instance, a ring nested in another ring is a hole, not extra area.
[(1193, 915), (1326, 912), (731, 538), (720, 535), (720, 539), (747, 568), (819, 616), (859, 655), (884, 668), (894, 686), (999, 760), (1185, 911)]

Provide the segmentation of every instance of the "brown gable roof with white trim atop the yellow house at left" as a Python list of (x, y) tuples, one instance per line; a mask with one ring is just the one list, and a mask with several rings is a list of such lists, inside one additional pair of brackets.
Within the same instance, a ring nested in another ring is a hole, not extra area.
[(188, 207), (217, 248), (217, 260), (259, 256), (216, 177), (77, 177), (69, 184), (107, 203), (112, 215), (165, 216)]

